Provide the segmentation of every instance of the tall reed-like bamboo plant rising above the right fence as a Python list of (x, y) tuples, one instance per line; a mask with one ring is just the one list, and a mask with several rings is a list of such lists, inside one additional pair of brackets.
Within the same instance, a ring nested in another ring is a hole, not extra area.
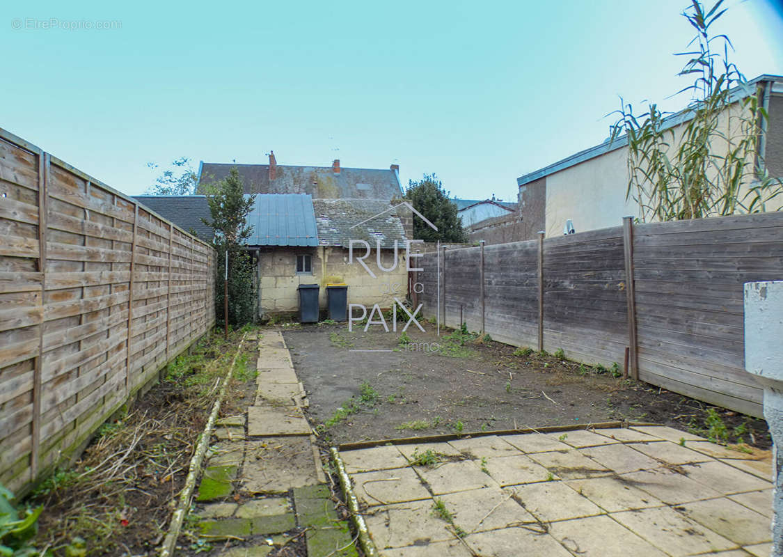
[(723, 0), (709, 10), (698, 0), (682, 14), (695, 28), (680, 76), (695, 77), (680, 92), (691, 95), (688, 118), (673, 126), (655, 104), (644, 114), (621, 101), (612, 140), (628, 137), (630, 179), (626, 198), (640, 206), (642, 220), (698, 219), (769, 210), (783, 193), (759, 154), (759, 130), (767, 121), (760, 89), (732, 98), (734, 88), (749, 88), (745, 76), (728, 60), (731, 41), (713, 36), (710, 27), (726, 12)]

